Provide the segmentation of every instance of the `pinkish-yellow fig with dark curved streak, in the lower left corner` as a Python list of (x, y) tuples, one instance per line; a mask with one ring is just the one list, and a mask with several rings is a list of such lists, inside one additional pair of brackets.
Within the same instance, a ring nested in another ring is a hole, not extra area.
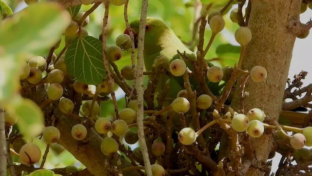
[(40, 148), (34, 143), (26, 143), (20, 148), (20, 160), (28, 165), (33, 165), (41, 157)]

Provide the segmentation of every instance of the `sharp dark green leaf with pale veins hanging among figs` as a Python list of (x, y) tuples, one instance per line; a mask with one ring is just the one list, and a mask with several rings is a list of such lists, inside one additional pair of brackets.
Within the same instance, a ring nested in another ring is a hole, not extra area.
[(101, 42), (91, 36), (75, 37), (65, 54), (68, 72), (85, 84), (97, 85), (106, 78)]

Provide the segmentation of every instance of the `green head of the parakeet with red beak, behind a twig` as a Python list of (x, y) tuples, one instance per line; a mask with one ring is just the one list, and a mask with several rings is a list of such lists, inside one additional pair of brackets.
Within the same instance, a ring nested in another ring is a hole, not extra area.
[[(133, 22), (130, 23), (130, 26), (134, 33), (136, 48), (138, 40), (137, 36), (139, 31), (139, 23), (140, 23), (139, 19), (134, 20)], [(129, 35), (129, 31), (127, 29), (125, 30), (124, 33)], [(164, 42), (164, 39), (166, 39), (166, 36), (171, 35), (175, 34), (166, 23), (156, 18), (147, 17), (145, 25), (144, 49), (149, 48), (153, 48), (154, 50), (157, 48), (161, 49), (161, 44)], [(170, 38), (168, 37), (168, 39)]]

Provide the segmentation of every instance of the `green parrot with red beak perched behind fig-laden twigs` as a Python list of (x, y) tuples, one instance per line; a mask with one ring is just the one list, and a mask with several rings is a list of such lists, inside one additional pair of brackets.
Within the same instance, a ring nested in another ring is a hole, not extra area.
[[(135, 46), (137, 47), (137, 34), (139, 31), (139, 22), (140, 20), (135, 20), (130, 23), (132, 31), (134, 33), (135, 38)], [(126, 29), (125, 34), (129, 35), (129, 31)], [(144, 41), (144, 66), (146, 71), (152, 71), (152, 65), (157, 56), (163, 55), (166, 56), (169, 60), (171, 60), (177, 54), (177, 50), (181, 53), (184, 51), (187, 54), (192, 54), (195, 57), (195, 53), (188, 49), (182, 41), (176, 36), (174, 31), (164, 22), (159, 19), (147, 17), (146, 18), (146, 26), (145, 26), (145, 41)], [(175, 57), (176, 58), (176, 57)], [(209, 63), (210, 66), (213, 66)], [(187, 64), (187, 66), (192, 70), (192, 67)], [(156, 88), (156, 92), (160, 93), (163, 89), (164, 85), (159, 86), (159, 82), (161, 79), (169, 79), (168, 76), (162, 76), (158, 79), (158, 85)], [(208, 81), (208, 79), (207, 79)], [(163, 81), (162, 81), (163, 82)], [(191, 84), (195, 87), (195, 81), (190, 80)], [(176, 98), (177, 93), (184, 89), (183, 86), (183, 78), (174, 77), (170, 78), (170, 89), (166, 98)], [(209, 83), (209, 88), (214, 94), (219, 94), (218, 83)]]

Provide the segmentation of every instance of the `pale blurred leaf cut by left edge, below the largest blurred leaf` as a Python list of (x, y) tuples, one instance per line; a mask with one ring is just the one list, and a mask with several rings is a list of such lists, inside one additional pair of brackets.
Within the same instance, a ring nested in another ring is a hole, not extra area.
[(0, 101), (5, 102), (20, 88), (20, 63), (15, 62), (13, 55), (0, 57)]

